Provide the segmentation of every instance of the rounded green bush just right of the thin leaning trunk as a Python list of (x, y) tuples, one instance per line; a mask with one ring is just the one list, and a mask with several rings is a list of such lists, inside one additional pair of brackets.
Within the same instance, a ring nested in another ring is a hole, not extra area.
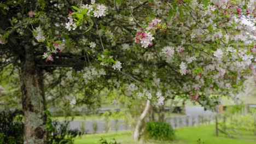
[(174, 130), (171, 124), (164, 122), (148, 122), (146, 124), (146, 135), (149, 139), (173, 140)]

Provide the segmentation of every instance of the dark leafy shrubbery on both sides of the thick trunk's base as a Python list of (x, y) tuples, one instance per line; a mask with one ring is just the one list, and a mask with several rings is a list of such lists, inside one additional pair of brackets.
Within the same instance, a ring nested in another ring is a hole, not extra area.
[[(48, 116), (46, 129), (48, 143), (51, 144), (71, 144), (74, 137), (82, 135), (78, 130), (69, 130), (69, 122), (51, 121), (49, 111), (45, 111)], [(23, 140), (23, 112), (21, 110), (4, 110), (0, 112), (0, 143), (21, 144)]]

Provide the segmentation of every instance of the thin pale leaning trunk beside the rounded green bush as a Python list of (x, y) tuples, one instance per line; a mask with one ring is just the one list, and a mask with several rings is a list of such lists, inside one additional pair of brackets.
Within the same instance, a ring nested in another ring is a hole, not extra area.
[(147, 100), (146, 106), (145, 106), (141, 116), (138, 119), (138, 122), (136, 124), (135, 130), (133, 133), (133, 139), (137, 142), (141, 139), (141, 132), (142, 132), (142, 129), (143, 129), (143, 126), (145, 123), (144, 120), (147, 116), (149, 109), (150, 109), (150, 100)]

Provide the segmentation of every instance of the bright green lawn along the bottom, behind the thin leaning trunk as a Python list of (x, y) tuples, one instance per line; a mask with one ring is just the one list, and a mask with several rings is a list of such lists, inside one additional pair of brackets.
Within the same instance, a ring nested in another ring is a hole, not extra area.
[[(93, 134), (93, 135), (84, 135), (80, 139), (75, 140), (75, 144), (93, 144), (99, 143), (99, 140), (103, 137), (107, 141), (116, 139), (117, 142), (121, 144), (136, 144), (132, 140), (130, 131), (121, 131), (118, 133), (107, 133), (107, 134)], [(197, 127), (186, 127), (176, 130), (176, 140), (174, 141), (149, 141), (148, 144), (197, 144), (197, 140), (201, 139), (205, 144), (253, 144), (255, 141), (249, 140), (236, 140), (229, 139), (227, 137), (216, 137), (214, 125), (200, 125)]]

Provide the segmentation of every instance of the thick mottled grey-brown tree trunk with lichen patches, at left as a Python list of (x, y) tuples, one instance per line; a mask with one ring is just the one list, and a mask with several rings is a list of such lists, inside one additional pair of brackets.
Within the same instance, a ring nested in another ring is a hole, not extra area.
[(24, 143), (46, 143), (46, 115), (42, 71), (36, 68), (33, 47), (25, 46), (21, 67)]

